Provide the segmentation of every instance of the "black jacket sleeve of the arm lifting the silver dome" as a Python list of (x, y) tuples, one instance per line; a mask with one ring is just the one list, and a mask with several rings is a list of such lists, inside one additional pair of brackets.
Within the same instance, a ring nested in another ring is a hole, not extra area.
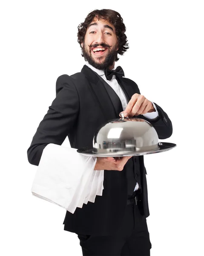
[[(136, 86), (136, 91), (137, 92), (139, 91), (139, 94), (141, 94), (140, 90), (138, 88), (138, 85), (136, 83), (135, 83), (135, 86)], [(147, 120), (155, 128), (159, 139), (161, 139), (161, 140), (167, 139), (167, 138), (171, 137), (172, 132), (173, 132), (172, 122), (171, 122), (170, 118), (168, 117), (167, 113), (165, 113), (164, 110), (159, 105), (157, 105), (155, 102), (153, 102), (153, 103), (155, 104), (157, 111), (158, 111), (157, 118), (148, 119), (143, 115), (138, 115), (138, 116), (134, 116), (134, 117), (138, 117), (138, 118)]]

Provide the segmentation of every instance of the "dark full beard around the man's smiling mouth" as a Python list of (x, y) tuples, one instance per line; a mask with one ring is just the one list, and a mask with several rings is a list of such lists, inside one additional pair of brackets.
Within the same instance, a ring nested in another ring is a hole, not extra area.
[[(97, 47), (97, 46), (99, 45), (94, 45), (94, 47)], [(109, 47), (106, 46), (105, 44), (100, 44), (100, 46), (106, 47), (109, 50)], [(92, 58), (92, 53), (90, 52), (90, 50), (89, 51), (86, 50), (84, 42), (83, 42), (82, 50), (83, 50), (83, 57), (85, 61), (88, 61), (89, 64), (91, 64), (93, 67), (97, 68), (98, 70), (104, 70), (107, 67), (112, 66), (115, 61), (115, 57), (117, 56), (117, 45), (115, 45), (115, 47), (110, 52), (107, 53), (102, 63), (98, 63), (94, 60), (94, 58)], [(102, 56), (102, 57), (99, 57), (98, 59), (100, 60), (102, 58), (104, 57)]]

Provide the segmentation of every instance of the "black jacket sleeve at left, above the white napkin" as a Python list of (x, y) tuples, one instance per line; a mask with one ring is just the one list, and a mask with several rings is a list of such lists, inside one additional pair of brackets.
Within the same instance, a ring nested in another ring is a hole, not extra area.
[(62, 75), (56, 81), (56, 97), (40, 122), (27, 150), (28, 161), (38, 166), (43, 149), (49, 143), (61, 145), (74, 128), (79, 111), (79, 97), (72, 78)]

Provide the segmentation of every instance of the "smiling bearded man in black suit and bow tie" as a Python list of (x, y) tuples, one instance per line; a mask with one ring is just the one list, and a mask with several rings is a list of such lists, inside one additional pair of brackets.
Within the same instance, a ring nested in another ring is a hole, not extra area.
[[(56, 98), (27, 152), (29, 163), (38, 165), (46, 145), (61, 145), (66, 136), (72, 148), (92, 147), (98, 127), (122, 111), (148, 120), (159, 139), (171, 136), (172, 124), (162, 108), (122, 77), (120, 67), (114, 71), (118, 54), (129, 48), (125, 31), (121, 15), (109, 9), (89, 13), (78, 26), (86, 65), (79, 73), (57, 78)], [(104, 170), (103, 195), (74, 214), (67, 211), (64, 230), (78, 234), (83, 255), (150, 255), (144, 157), (98, 157), (95, 170)]]

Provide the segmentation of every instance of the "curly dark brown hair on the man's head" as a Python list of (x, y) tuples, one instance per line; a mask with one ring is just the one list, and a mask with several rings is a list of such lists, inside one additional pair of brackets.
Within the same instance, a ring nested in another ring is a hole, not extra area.
[[(126, 27), (123, 23), (123, 18), (118, 12), (115, 12), (111, 9), (102, 9), (102, 10), (94, 10), (90, 12), (87, 16), (84, 22), (80, 23), (78, 26), (78, 43), (81, 44), (84, 42), (84, 38), (86, 35), (86, 29), (89, 26), (89, 24), (92, 22), (92, 20), (97, 17), (99, 19), (107, 20), (110, 24), (112, 24), (115, 27), (115, 32), (118, 38), (118, 51), (117, 55), (115, 57), (115, 61), (118, 61), (118, 54), (124, 55), (124, 52), (129, 48), (127, 43), (127, 37), (125, 35)], [(81, 47), (81, 45), (80, 45)], [(83, 57), (83, 48), (82, 50), (82, 57)]]

